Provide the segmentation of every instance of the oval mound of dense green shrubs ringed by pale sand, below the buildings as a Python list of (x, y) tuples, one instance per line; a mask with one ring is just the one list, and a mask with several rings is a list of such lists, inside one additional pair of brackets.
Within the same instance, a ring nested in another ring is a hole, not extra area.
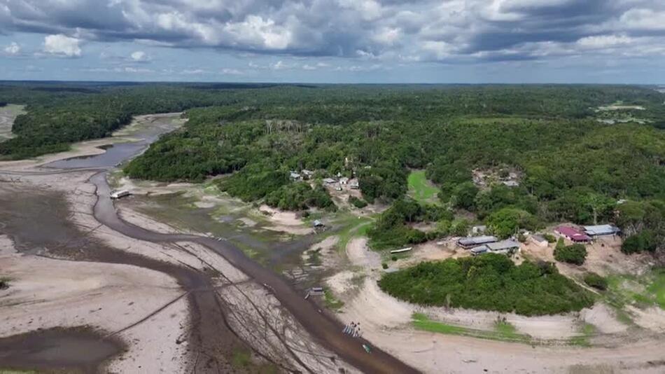
[(589, 291), (563, 277), (552, 263), (521, 265), (500, 254), (424, 262), (379, 280), (387, 293), (421, 305), (557, 314), (593, 305)]

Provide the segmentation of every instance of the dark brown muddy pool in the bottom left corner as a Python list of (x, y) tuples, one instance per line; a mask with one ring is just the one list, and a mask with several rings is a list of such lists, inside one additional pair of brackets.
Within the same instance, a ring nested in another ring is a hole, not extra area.
[(91, 328), (50, 328), (0, 338), (0, 368), (97, 373), (124, 350), (123, 342)]

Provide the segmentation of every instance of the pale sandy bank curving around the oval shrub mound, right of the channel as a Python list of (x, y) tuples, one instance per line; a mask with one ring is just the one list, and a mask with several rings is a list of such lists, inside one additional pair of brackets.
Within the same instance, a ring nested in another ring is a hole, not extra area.
[[(426, 254), (431, 254), (426, 251)], [(366, 240), (351, 240), (346, 255), (358, 271), (344, 270), (328, 279), (328, 285), (344, 301), (339, 318), (360, 323), (363, 337), (426, 373), (661, 373), (660, 342), (644, 338), (636, 342), (628, 336), (624, 343), (614, 340), (612, 348), (531, 346), (521, 343), (482, 340), (457, 335), (417, 331), (412, 314), (423, 312), (438, 321), (475, 329), (492, 329), (497, 317), (505, 317), (519, 333), (534, 338), (566, 340), (579, 334), (581, 324), (598, 326), (603, 334), (624, 334), (628, 326), (617, 321), (603, 304), (580, 313), (524, 317), (472, 310), (445, 310), (421, 307), (397, 300), (377, 285), (381, 275), (379, 255), (367, 249)], [(450, 252), (448, 256), (454, 256)], [(360, 286), (351, 279), (364, 275)], [(340, 286), (340, 282), (346, 286)], [(651, 363), (650, 363), (651, 362)]]

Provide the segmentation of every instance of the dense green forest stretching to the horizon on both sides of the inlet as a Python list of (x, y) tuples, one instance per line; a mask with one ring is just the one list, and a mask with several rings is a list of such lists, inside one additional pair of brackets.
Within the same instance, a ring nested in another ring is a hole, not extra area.
[[(462, 233), (468, 211), (500, 237), (545, 223), (616, 223), (626, 251), (665, 242), (665, 95), (610, 85), (0, 85), (0, 102), (27, 104), (1, 158), (60, 151), (104, 137), (142, 113), (186, 111), (188, 123), (125, 168), (134, 178), (203, 181), (283, 209), (334, 209), (318, 186), (357, 176), (367, 202), (388, 202), (375, 247)], [(629, 113), (598, 111), (622, 102)], [(644, 124), (608, 125), (626, 115)], [(315, 171), (316, 183), (291, 170)], [(425, 169), (439, 203), (409, 215), (407, 177)], [(497, 176), (484, 186), (479, 172)], [(506, 186), (502, 178), (516, 175)], [(421, 233), (413, 223), (436, 222)], [(373, 234), (373, 235), (372, 235)], [(654, 249), (655, 248), (655, 249)]]

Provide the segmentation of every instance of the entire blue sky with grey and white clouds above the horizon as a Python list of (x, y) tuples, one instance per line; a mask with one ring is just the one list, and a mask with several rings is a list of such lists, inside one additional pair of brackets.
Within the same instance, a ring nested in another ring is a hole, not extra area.
[(665, 0), (0, 0), (0, 79), (665, 83)]

